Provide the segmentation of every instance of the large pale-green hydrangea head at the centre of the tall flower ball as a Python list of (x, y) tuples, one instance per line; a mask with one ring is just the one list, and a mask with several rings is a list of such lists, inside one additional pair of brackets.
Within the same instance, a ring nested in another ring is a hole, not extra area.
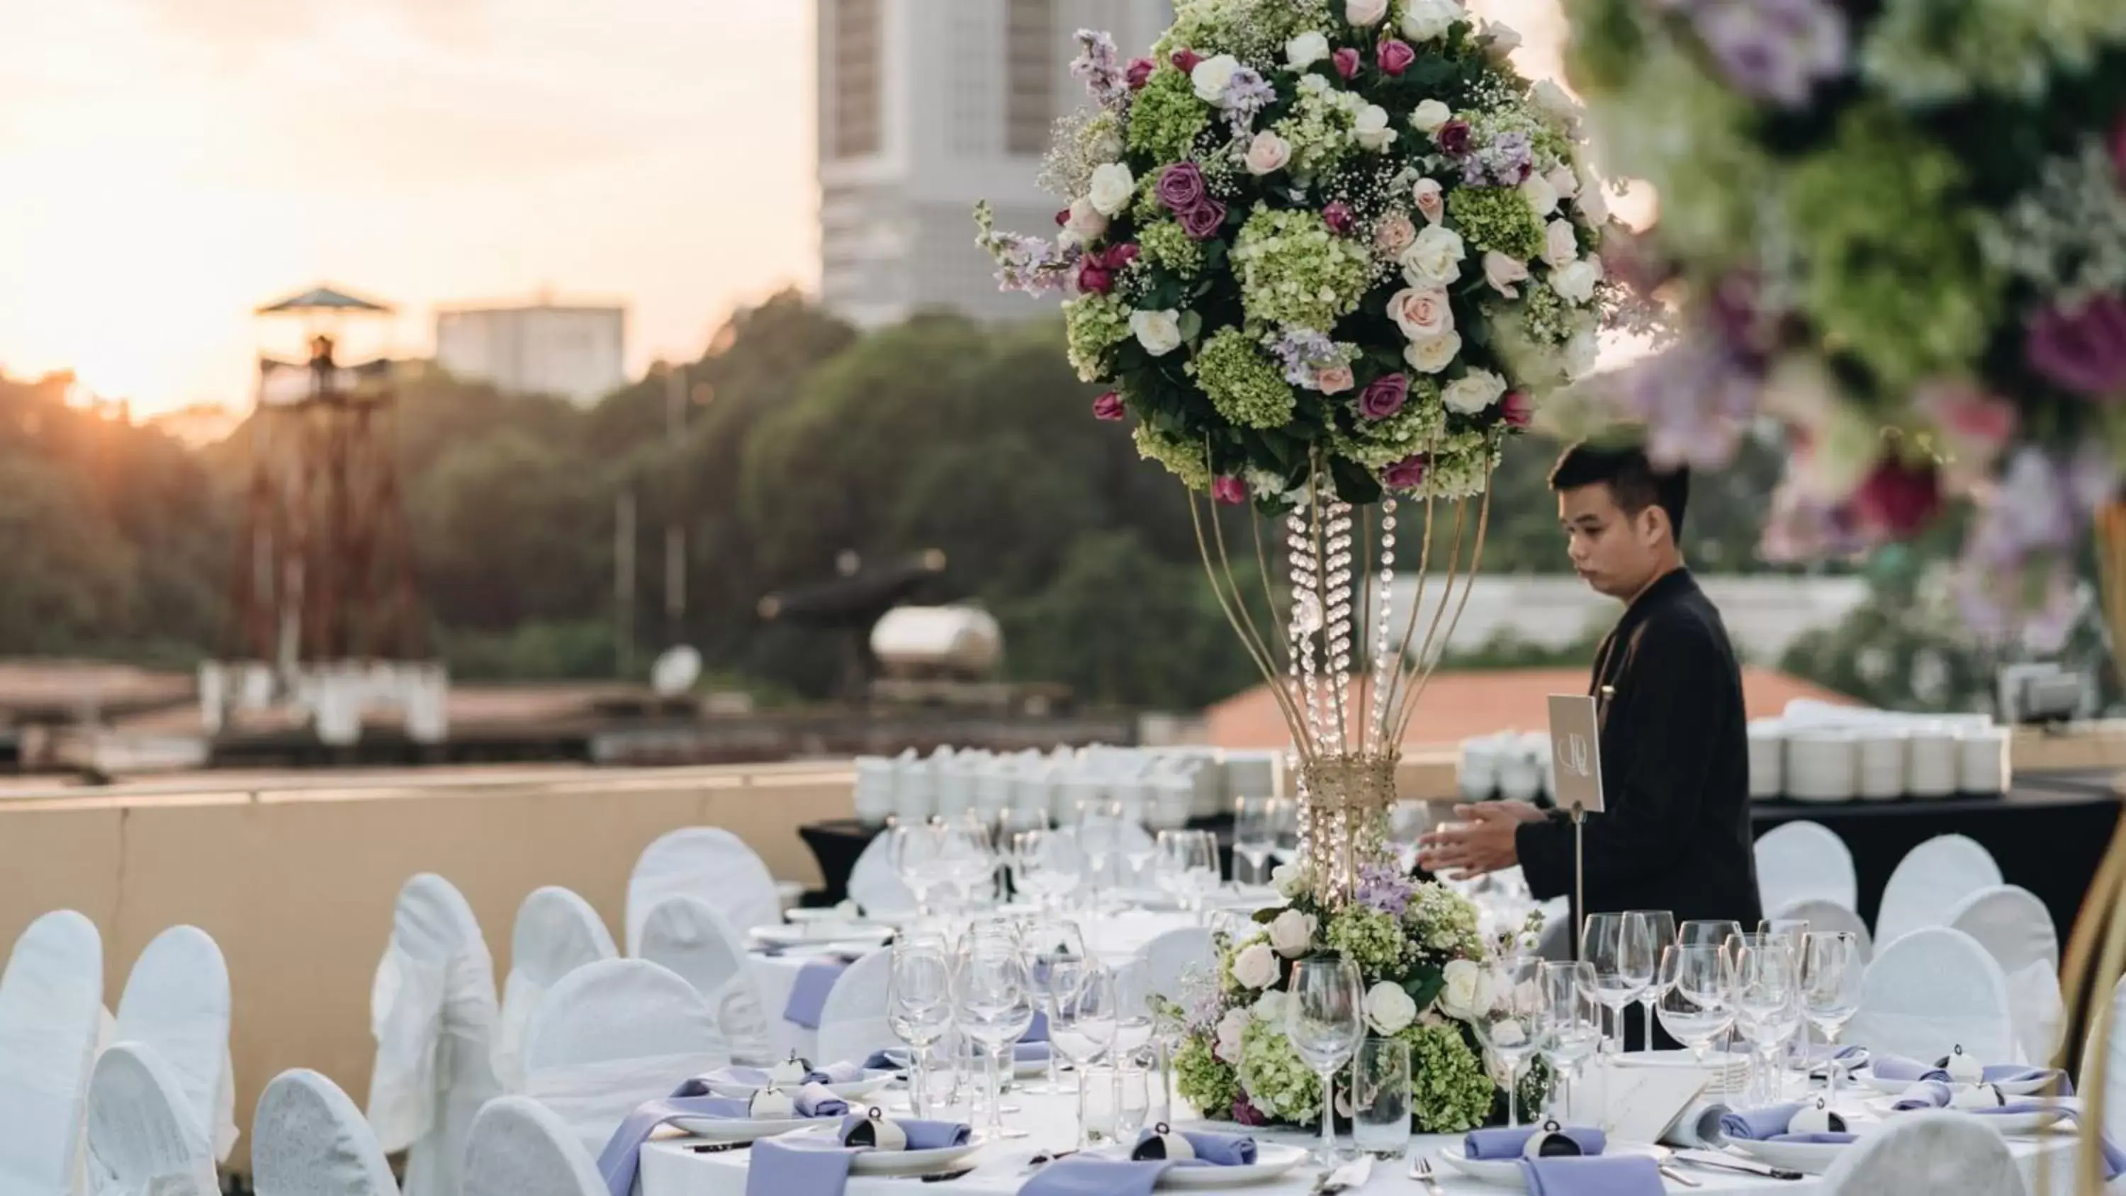
[(1250, 321), (1329, 329), (1359, 310), (1373, 255), (1329, 232), (1318, 212), (1259, 204), (1233, 240), (1233, 272)]

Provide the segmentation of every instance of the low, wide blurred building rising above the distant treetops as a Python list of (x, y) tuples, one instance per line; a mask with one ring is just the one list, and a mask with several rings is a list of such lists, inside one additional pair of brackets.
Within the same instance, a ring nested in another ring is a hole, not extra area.
[(589, 406), (627, 385), (627, 310), (546, 300), (442, 308), (436, 363), (508, 395)]

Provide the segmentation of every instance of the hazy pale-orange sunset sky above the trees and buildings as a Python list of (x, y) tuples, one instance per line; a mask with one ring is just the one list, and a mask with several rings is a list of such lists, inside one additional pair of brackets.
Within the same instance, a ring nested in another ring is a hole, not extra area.
[[(810, 0), (64, 0), (0, 28), (0, 372), (249, 404), (251, 308), (619, 300), (629, 368), (814, 285)], [(1554, 0), (1484, 4), (1554, 70)], [(972, 200), (972, 195), (969, 195)]]

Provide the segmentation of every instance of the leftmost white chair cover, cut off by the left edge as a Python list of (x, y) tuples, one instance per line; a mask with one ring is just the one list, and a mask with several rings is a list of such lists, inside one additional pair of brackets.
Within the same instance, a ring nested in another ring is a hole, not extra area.
[(0, 973), (0, 1192), (74, 1190), (102, 1018), (96, 924), (72, 909), (30, 922)]

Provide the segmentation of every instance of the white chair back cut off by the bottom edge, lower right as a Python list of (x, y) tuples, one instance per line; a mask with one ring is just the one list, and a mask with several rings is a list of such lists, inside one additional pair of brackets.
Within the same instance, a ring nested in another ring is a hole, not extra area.
[[(1888, 950), (1888, 947), (1886, 947)], [(2056, 1171), (2064, 1171), (2066, 1162)], [(2028, 1196), (2007, 1141), (1977, 1117), (1890, 1117), (1824, 1173), (1824, 1196)]]

